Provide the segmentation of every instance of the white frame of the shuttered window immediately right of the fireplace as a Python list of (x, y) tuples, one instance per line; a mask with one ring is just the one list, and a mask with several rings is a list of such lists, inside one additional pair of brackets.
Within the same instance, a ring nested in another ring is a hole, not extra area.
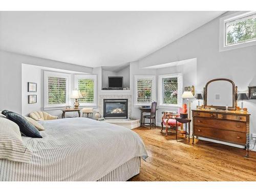
[(156, 76), (155, 75), (134, 75), (134, 106), (147, 106), (152, 102), (142, 103), (137, 102), (137, 81), (139, 79), (150, 79), (152, 80), (152, 101), (156, 101)]

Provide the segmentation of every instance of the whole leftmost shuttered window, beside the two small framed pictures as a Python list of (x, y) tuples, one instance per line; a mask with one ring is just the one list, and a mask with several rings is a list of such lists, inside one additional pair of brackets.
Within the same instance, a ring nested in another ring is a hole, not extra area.
[(45, 108), (69, 105), (71, 75), (52, 71), (44, 72)]

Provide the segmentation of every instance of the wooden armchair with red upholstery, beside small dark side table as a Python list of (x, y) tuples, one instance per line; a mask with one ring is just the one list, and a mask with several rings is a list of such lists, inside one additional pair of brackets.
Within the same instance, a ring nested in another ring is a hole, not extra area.
[[(168, 134), (168, 127), (170, 127), (170, 129), (173, 128), (173, 130), (176, 130), (176, 119), (175, 117), (180, 117), (181, 113), (187, 113), (187, 105), (183, 104), (182, 108), (178, 109), (178, 113), (174, 114), (174, 113), (164, 113), (162, 116), (162, 130), (163, 131), (163, 125), (165, 125), (165, 130), (166, 130), (166, 134), (165, 136), (167, 136)], [(183, 124), (180, 122), (177, 122), (177, 125), (181, 127), (181, 130), (183, 129)]]

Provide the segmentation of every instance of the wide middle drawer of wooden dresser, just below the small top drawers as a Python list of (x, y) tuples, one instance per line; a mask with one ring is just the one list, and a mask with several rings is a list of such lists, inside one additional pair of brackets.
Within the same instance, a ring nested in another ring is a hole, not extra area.
[(245, 122), (195, 117), (194, 123), (198, 126), (246, 133)]

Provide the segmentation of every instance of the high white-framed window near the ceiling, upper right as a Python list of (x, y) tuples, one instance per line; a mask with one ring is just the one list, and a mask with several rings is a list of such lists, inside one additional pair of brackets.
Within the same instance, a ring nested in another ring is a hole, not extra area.
[(220, 19), (220, 51), (256, 45), (256, 12), (238, 12)]

